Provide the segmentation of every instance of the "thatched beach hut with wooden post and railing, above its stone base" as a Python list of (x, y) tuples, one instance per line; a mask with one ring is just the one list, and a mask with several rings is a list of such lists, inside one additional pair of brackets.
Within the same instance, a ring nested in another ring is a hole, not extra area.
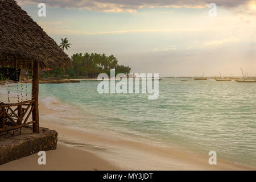
[(71, 59), (15, 1), (0, 0), (0, 22), (1, 69), (17, 75), (20, 69), (32, 72), (31, 100), (0, 104), (0, 132), (21, 133), (22, 127), (32, 124), (33, 133), (39, 133), (39, 71), (67, 68)]

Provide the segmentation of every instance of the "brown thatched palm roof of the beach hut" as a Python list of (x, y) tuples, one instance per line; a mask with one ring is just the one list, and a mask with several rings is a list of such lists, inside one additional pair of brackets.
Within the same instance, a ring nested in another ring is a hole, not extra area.
[(71, 60), (56, 42), (13, 0), (0, 0), (0, 65), (63, 68)]

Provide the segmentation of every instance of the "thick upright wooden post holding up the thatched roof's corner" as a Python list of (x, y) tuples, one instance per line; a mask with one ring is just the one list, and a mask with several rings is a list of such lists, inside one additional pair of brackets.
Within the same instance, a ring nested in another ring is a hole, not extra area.
[(34, 61), (33, 64), (33, 80), (32, 80), (32, 99), (34, 102), (34, 109), (32, 111), (33, 133), (39, 133), (39, 109), (38, 109), (38, 94), (39, 94), (39, 63)]

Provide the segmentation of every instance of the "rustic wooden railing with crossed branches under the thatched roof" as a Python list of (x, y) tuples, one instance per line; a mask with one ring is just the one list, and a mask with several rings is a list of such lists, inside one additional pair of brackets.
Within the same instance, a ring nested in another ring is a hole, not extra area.
[[(35, 108), (35, 100), (18, 104), (0, 104), (0, 133), (3, 131), (17, 131), (21, 134), (22, 127), (37, 121), (28, 121)], [(32, 119), (31, 119), (32, 120)]]

